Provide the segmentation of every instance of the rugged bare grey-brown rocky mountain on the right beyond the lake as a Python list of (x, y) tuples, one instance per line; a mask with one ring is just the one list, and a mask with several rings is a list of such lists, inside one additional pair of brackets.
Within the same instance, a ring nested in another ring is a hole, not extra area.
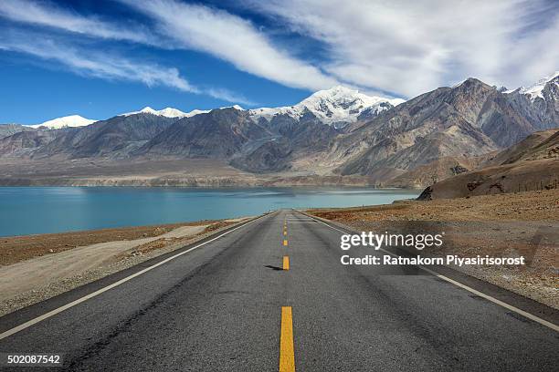
[(335, 140), (328, 159), (341, 163), (342, 174), (411, 171), (445, 157), (472, 158), (511, 146), (536, 130), (557, 126), (554, 115), (542, 114), (535, 102), (517, 93), (504, 94), (469, 78), (353, 124)]

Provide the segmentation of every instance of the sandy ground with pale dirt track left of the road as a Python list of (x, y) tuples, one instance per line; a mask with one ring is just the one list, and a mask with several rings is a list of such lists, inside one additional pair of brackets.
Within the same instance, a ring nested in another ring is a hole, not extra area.
[(2, 238), (0, 257), (8, 264), (0, 271), (0, 315), (195, 243), (245, 219)]

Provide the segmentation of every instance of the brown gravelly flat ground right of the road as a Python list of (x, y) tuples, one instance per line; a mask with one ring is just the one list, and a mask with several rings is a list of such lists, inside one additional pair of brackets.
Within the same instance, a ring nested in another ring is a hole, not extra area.
[[(523, 255), (524, 266), (452, 266), (559, 309), (559, 191), (529, 191), (430, 202), (307, 211), (356, 231), (445, 232), (440, 248), (422, 255), (494, 257)], [(414, 252), (417, 254), (419, 251)]]

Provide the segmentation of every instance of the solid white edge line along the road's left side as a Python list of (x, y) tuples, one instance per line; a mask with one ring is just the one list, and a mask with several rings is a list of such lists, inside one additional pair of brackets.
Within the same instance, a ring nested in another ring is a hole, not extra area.
[(176, 253), (176, 254), (174, 254), (174, 255), (171, 256), (171, 257), (165, 258), (163, 261), (161, 261), (161, 262), (159, 262), (159, 263), (154, 263), (152, 266), (146, 267), (145, 269), (143, 269), (143, 270), (141, 270), (141, 271), (139, 271), (139, 272), (137, 272), (137, 273), (134, 273), (134, 274), (132, 274), (132, 275), (130, 275), (130, 276), (127, 276), (127, 277), (125, 277), (125, 278), (122, 278), (121, 280), (119, 280), (119, 281), (117, 281), (117, 282), (114, 282), (113, 284), (107, 285), (106, 287), (100, 288), (99, 290), (97, 290), (97, 291), (95, 291), (95, 292), (92, 292), (92, 293), (90, 293), (90, 294), (84, 295), (83, 297), (81, 297), (81, 298), (79, 298), (79, 299), (77, 299), (77, 300), (74, 300), (74, 301), (72, 301), (72, 302), (70, 302), (70, 303), (68, 303), (68, 304), (66, 304), (66, 305), (63, 305), (63, 306), (60, 306), (60, 307), (58, 307), (58, 308), (56, 308), (56, 309), (54, 309), (54, 310), (51, 310), (51, 311), (49, 311), (48, 313), (45, 313), (45, 314), (40, 315), (40, 316), (37, 316), (37, 317), (34, 318), (34, 319), (28, 320), (28, 321), (26, 321), (26, 323), (23, 323), (23, 324), (21, 324), (21, 325), (17, 325), (17, 326), (15, 326), (15, 327), (12, 328), (12, 329), (8, 329), (7, 331), (5, 331), (5, 332), (3, 332), (3, 333), (0, 334), (0, 340), (3, 339), (3, 338), (5, 338), (5, 337), (12, 336), (12, 335), (16, 334), (17, 332), (22, 331), (22, 330), (24, 330), (24, 329), (30, 327), (31, 325), (36, 325), (37, 323), (42, 322), (43, 320), (45, 320), (45, 319), (47, 319), (47, 318), (49, 318), (49, 317), (51, 317), (51, 316), (53, 316), (53, 315), (57, 315), (58, 313), (61, 313), (61, 312), (63, 312), (64, 310), (67, 310), (67, 309), (69, 309), (69, 308), (72, 307), (72, 306), (79, 305), (79, 304), (81, 304), (82, 302), (89, 300), (90, 298), (93, 298), (93, 297), (95, 297), (95, 296), (97, 296), (97, 295), (99, 295), (99, 294), (102, 294), (102, 293), (104, 293), (104, 292), (107, 292), (107, 291), (109, 291), (110, 289), (112, 289), (112, 288), (114, 288), (114, 287), (116, 287), (116, 286), (119, 286), (119, 285), (121, 285), (121, 284), (123, 284), (123, 283), (128, 282), (129, 280), (135, 278), (136, 276), (140, 276), (140, 275), (142, 275), (142, 274), (145, 274), (145, 273), (147, 273), (147, 272), (153, 270), (154, 268), (156, 268), (156, 267), (158, 267), (158, 266), (161, 266), (163, 263), (168, 263), (169, 261), (172, 261), (172, 260), (174, 260), (175, 258), (182, 256), (183, 254), (192, 252), (192, 251), (194, 251), (195, 249), (200, 248), (200, 247), (203, 246), (203, 245), (206, 245), (207, 243), (215, 242), (217, 239), (221, 238), (222, 236), (225, 236), (225, 235), (227, 235), (228, 233), (233, 233), (233, 232), (236, 231), (237, 229), (240, 229), (241, 227), (245, 227), (245, 226), (247, 226), (248, 224), (250, 224), (250, 223), (252, 223), (252, 222), (255, 222), (255, 221), (259, 220), (260, 218), (262, 218), (262, 217), (264, 217), (264, 216), (266, 216), (266, 215), (269, 215), (269, 214), (270, 214), (270, 213), (263, 214), (263, 215), (261, 215), (261, 216), (255, 218), (254, 220), (249, 221), (249, 222), (246, 222), (246, 223), (243, 223), (242, 225), (237, 226), (236, 228), (231, 229), (231, 230), (227, 231), (226, 233), (222, 233), (221, 235), (218, 235), (218, 236), (216, 236), (215, 238), (212, 238), (212, 239), (208, 240), (207, 242), (200, 243), (200, 244), (198, 244), (198, 245), (196, 245), (196, 246), (194, 246), (194, 247), (192, 247), (192, 248), (187, 249), (187, 250), (184, 251), (184, 252)]

